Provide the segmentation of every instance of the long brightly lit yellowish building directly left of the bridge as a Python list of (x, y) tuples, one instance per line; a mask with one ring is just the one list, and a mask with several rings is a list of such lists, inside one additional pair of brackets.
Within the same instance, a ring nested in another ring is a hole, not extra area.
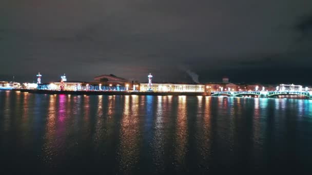
[(180, 84), (180, 83), (140, 83), (140, 91), (147, 92), (205, 92), (203, 84)]

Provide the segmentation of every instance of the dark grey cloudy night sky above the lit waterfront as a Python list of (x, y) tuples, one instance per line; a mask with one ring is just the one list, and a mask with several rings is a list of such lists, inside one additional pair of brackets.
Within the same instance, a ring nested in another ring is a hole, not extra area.
[(0, 60), (0, 80), (22, 82), (312, 84), (312, 1), (4, 0)]

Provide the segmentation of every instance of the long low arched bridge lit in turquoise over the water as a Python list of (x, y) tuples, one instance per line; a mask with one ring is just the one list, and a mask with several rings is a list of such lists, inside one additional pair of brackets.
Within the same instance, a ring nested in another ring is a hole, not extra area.
[(297, 95), (312, 98), (312, 92), (306, 91), (214, 91), (211, 96), (228, 96), (228, 97), (241, 97), (241, 96), (259, 96), (263, 98), (276, 97), (279, 95)]

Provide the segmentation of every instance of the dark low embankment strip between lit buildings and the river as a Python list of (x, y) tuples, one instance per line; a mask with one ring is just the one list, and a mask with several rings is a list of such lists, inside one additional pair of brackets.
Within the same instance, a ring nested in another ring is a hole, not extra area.
[(153, 96), (209, 96), (208, 93), (190, 92), (132, 92), (132, 91), (50, 91), (50, 90), (26, 90), (13, 89), (12, 91), (28, 92), (33, 94), (68, 94), (68, 95), (153, 95)]

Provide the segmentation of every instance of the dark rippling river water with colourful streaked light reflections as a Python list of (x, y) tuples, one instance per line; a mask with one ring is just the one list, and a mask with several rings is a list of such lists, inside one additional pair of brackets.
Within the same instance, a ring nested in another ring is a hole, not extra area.
[(0, 91), (0, 151), (1, 174), (309, 173), (312, 100)]

